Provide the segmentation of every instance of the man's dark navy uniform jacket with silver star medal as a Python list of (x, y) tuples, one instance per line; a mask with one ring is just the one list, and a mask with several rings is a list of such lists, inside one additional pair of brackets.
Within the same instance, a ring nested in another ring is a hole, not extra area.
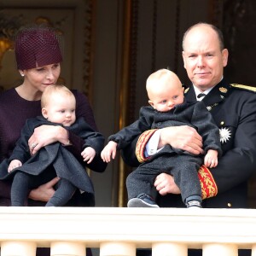
[[(193, 87), (185, 97), (188, 102), (196, 101)], [(223, 79), (202, 102), (218, 125), (223, 149), (218, 166), (210, 169), (218, 194), (203, 201), (203, 207), (247, 207), (247, 181), (256, 172), (255, 88), (253, 91), (252, 87), (229, 84)], [(161, 198), (163, 205), (166, 200)]]

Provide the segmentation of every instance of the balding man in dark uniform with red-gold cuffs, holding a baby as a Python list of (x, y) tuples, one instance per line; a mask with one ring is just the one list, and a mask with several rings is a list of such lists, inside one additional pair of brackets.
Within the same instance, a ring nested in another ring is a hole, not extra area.
[[(205, 103), (219, 127), (223, 149), (218, 166), (211, 169), (201, 166), (198, 172), (205, 199), (202, 207), (247, 207), (247, 180), (256, 171), (255, 88), (224, 80), (228, 55), (223, 35), (215, 26), (198, 23), (183, 36), (183, 62), (192, 82), (186, 90), (186, 99)], [(202, 93), (205, 96), (201, 96)], [(137, 160), (147, 160), (148, 152), (154, 154), (157, 148), (166, 144), (192, 154), (201, 153), (201, 137), (195, 130), (186, 126), (171, 127), (145, 131), (137, 143)], [(125, 162), (136, 165), (126, 157), (131, 148), (126, 150), (123, 152)], [(159, 191), (161, 207), (183, 207), (172, 176), (160, 174), (154, 186)]]

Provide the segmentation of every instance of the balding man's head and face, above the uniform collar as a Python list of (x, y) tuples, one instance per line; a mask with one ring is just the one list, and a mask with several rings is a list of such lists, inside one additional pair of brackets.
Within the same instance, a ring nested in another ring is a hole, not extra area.
[(228, 50), (220, 49), (217, 32), (201, 25), (188, 32), (183, 44), (183, 62), (191, 82), (207, 90), (222, 79)]

